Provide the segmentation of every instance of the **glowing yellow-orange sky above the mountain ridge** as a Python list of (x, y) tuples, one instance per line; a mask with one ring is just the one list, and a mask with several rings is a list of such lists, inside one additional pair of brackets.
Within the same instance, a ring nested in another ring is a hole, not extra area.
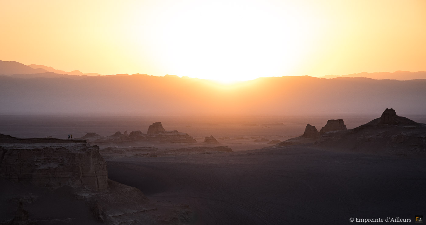
[(0, 29), (0, 60), (84, 73), (426, 71), (425, 0), (15, 0)]

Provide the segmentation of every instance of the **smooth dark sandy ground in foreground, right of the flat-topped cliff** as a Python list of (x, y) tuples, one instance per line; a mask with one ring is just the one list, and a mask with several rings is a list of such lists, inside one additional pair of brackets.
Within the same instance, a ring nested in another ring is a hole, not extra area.
[(351, 224), (423, 215), (424, 160), (306, 145), (107, 163), (149, 199), (189, 204), (196, 224)]

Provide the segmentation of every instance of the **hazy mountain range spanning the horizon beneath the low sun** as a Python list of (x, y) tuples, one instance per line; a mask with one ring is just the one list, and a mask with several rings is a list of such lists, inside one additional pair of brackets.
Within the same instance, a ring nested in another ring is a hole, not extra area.
[(173, 75), (57, 74), (3, 61), (0, 74), (6, 74), (0, 76), (0, 114), (340, 115), (383, 108), (426, 113), (426, 79), (284, 76), (222, 85)]

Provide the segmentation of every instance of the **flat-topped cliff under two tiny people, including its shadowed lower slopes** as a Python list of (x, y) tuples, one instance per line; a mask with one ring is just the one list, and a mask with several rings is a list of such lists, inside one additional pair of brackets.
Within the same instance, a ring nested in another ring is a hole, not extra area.
[(109, 180), (98, 146), (86, 140), (0, 134), (0, 182), (0, 205), (10, 207), (18, 199), (33, 209), (28, 213), (20, 203), (16, 213), (3, 210), (1, 224), (93, 224), (95, 219), (110, 225), (184, 224), (177, 218), (188, 210), (150, 202), (138, 188)]

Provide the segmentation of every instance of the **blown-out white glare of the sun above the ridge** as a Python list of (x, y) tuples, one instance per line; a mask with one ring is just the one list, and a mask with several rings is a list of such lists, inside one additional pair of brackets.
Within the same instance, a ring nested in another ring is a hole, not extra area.
[(232, 83), (291, 74), (318, 18), (265, 1), (193, 1), (156, 21), (150, 50), (170, 74)]

